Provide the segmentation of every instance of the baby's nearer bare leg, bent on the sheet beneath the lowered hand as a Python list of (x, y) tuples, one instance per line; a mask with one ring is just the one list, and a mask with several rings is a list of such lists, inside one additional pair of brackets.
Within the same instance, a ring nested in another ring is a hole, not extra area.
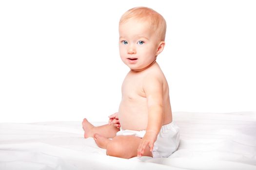
[[(100, 148), (107, 149), (108, 155), (126, 159), (137, 156), (141, 141), (141, 138), (136, 136), (116, 136), (110, 140), (97, 134), (94, 139)], [(153, 156), (149, 147), (145, 149), (143, 156)]]

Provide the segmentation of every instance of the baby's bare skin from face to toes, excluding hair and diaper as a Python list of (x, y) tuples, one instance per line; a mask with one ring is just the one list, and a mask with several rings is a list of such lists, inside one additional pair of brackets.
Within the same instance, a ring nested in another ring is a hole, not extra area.
[[(146, 21), (130, 19), (119, 25), (120, 57), (131, 70), (122, 84), (118, 114), (110, 118), (109, 124), (99, 127), (86, 119), (82, 123), (84, 137), (94, 137), (108, 155), (152, 157), (162, 125), (172, 122), (168, 83), (156, 62), (164, 45)], [(119, 126), (122, 130), (145, 130), (146, 133), (142, 138), (116, 136)]]

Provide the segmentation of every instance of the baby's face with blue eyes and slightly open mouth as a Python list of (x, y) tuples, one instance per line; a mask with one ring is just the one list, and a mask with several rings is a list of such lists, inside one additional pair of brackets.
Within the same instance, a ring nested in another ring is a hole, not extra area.
[(131, 70), (147, 68), (157, 58), (159, 39), (147, 22), (129, 20), (119, 25), (119, 52)]

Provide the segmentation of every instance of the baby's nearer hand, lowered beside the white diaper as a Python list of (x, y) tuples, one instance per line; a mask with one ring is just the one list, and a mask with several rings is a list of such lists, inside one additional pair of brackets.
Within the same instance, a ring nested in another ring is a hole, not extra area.
[(137, 156), (141, 157), (144, 153), (146, 147), (150, 148), (150, 152), (153, 151), (154, 143), (157, 140), (157, 135), (154, 133), (146, 133), (145, 136), (141, 139), (141, 142), (138, 146), (138, 153)]

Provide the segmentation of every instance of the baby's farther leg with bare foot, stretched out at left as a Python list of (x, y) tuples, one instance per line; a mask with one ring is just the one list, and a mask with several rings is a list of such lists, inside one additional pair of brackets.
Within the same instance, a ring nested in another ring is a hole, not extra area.
[(99, 134), (106, 138), (113, 138), (116, 136), (117, 132), (119, 131), (119, 129), (113, 124), (94, 126), (87, 119), (83, 119), (82, 126), (84, 130), (84, 138), (93, 137), (94, 134)]

